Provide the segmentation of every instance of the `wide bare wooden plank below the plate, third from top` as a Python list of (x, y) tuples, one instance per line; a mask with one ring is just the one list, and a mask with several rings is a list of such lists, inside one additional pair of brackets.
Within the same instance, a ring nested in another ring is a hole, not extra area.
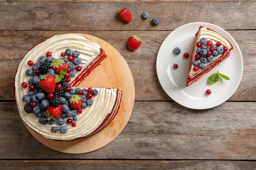
[(255, 110), (256, 102), (225, 102), (204, 111), (176, 102), (135, 102), (115, 140), (94, 152), (71, 155), (38, 142), (20, 120), (15, 103), (0, 102), (0, 159), (255, 160)]

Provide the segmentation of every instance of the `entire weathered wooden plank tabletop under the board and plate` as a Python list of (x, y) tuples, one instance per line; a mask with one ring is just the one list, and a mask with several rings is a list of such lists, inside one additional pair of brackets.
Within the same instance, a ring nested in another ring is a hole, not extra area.
[[(256, 169), (256, 2), (249, 0), (0, 0), (0, 169)], [(157, 2), (153, 2), (157, 1)], [(200, 2), (199, 2), (200, 1)], [(131, 23), (117, 17), (126, 6)], [(147, 11), (160, 24), (142, 20)], [(163, 91), (157, 52), (172, 30), (209, 22), (229, 32), (244, 60), (239, 88), (224, 104), (197, 111)], [(131, 34), (142, 45), (128, 51)], [(56, 34), (84, 33), (107, 41), (125, 58), (134, 77), (131, 118), (113, 142), (86, 154), (65, 154), (38, 142), (23, 125), (14, 102), (15, 70), (26, 51)]]

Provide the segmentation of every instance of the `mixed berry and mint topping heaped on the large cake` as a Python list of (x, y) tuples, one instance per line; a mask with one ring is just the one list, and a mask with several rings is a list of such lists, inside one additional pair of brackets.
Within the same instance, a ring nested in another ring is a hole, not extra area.
[(21, 83), (22, 88), (29, 87), (28, 95), (22, 97), (26, 103), (24, 111), (34, 113), (42, 125), (55, 125), (51, 128), (53, 133), (67, 133), (65, 122), (76, 127), (77, 114), (93, 105), (93, 96), (98, 95), (98, 91), (92, 88), (76, 88), (72, 91), (69, 82), (76, 76), (76, 71), (82, 69), (79, 56), (79, 51), (68, 48), (56, 58), (48, 51), (45, 56), (38, 58), (38, 62), (27, 62), (32, 68), (26, 70), (28, 83)]

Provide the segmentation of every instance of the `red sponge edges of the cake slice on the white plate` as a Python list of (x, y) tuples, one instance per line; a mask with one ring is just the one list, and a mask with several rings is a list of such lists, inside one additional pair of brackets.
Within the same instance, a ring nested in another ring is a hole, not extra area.
[[(190, 72), (190, 70), (191, 70), (191, 68), (192, 68), (192, 63), (193, 63), (193, 61), (194, 61), (194, 53), (195, 53), (195, 45), (196, 45), (196, 41), (197, 41), (197, 38), (198, 38), (198, 32), (201, 30), (201, 28), (203, 28), (204, 26), (200, 26), (199, 27), (199, 29), (198, 29), (198, 31), (196, 32), (196, 34), (195, 34), (195, 42), (194, 42), (194, 48), (193, 48), (193, 51), (192, 51), (192, 57), (191, 57), (191, 61), (190, 61), (190, 66), (189, 66), (189, 72)], [(210, 29), (210, 28), (207, 28), (208, 30), (210, 30), (210, 31), (214, 31), (214, 30), (212, 30), (212, 29)], [(216, 32), (216, 31), (214, 31), (214, 32)], [(218, 32), (217, 32), (218, 33)], [(218, 33), (219, 34), (219, 33)], [(221, 35), (221, 34), (220, 34)], [(221, 35), (222, 36), (222, 35)], [(223, 36), (222, 36), (223, 37)], [(225, 37), (223, 37), (223, 38), (225, 38)], [(226, 39), (226, 38), (225, 38)], [(226, 39), (227, 40), (227, 39)], [(227, 40), (228, 42), (229, 42), (229, 40)], [(230, 42), (229, 42), (230, 43)], [(203, 71), (198, 71), (198, 73), (196, 73), (196, 74), (194, 74), (192, 77), (190, 77), (189, 75), (188, 75), (188, 78), (187, 78), (187, 84), (186, 84), (186, 86), (189, 86), (189, 85), (191, 85), (193, 82), (195, 82), (195, 81), (197, 81), (198, 79), (200, 79), (202, 76), (204, 76), (204, 74), (207, 74), (210, 70), (212, 70), (212, 68), (214, 68), (216, 65), (218, 65), (219, 63), (221, 63), (224, 59), (226, 59), (227, 57), (229, 57), (230, 56), (230, 51), (233, 49), (233, 45), (230, 43), (230, 45), (231, 45), (231, 48), (228, 50), (228, 51), (226, 51), (226, 52), (224, 52), (224, 53), (222, 53), (221, 54), (221, 56), (220, 57), (218, 57), (218, 59), (215, 59), (214, 61), (212, 61), (209, 65), (207, 65), (205, 68), (203, 68), (202, 70)]]

